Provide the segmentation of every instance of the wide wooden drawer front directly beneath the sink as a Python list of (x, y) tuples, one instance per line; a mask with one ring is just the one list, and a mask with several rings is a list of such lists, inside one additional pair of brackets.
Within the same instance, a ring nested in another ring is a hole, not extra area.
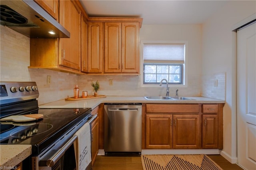
[(199, 105), (147, 104), (146, 113), (199, 113)]

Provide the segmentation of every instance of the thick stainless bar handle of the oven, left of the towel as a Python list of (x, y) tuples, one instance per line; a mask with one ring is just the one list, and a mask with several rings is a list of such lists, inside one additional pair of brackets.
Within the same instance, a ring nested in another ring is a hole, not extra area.
[(66, 152), (66, 150), (68, 150), (68, 148), (74, 143), (74, 141), (76, 140), (77, 136), (74, 135), (70, 140), (68, 140), (68, 142), (62, 146), (62, 148), (60, 148), (54, 155), (52, 155), (47, 161), (46, 161), (46, 165), (48, 167), (52, 167), (54, 166), (54, 164), (64, 155), (64, 153)]

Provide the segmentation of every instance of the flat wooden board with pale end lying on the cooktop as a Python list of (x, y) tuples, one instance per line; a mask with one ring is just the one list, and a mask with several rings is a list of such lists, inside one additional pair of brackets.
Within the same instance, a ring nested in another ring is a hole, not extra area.
[(28, 122), (42, 119), (42, 114), (30, 114), (30, 115), (13, 115), (0, 119), (0, 121), (14, 121), (14, 122)]

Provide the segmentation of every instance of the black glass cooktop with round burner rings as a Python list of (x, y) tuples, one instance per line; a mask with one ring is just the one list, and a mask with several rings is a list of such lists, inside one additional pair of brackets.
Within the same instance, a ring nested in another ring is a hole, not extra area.
[(44, 115), (37, 121), (21, 123), (1, 121), (0, 143), (31, 144), (32, 152), (39, 154), (82, 119), (88, 118), (91, 110), (91, 108), (38, 109), (30, 112), (30, 114)]

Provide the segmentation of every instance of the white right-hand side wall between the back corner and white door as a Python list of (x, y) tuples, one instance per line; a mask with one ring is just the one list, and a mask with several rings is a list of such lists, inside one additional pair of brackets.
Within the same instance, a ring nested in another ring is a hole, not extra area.
[(237, 159), (236, 33), (232, 32), (232, 26), (255, 12), (256, 1), (228, 1), (202, 26), (203, 76), (226, 73), (224, 148), (221, 154), (232, 163)]

